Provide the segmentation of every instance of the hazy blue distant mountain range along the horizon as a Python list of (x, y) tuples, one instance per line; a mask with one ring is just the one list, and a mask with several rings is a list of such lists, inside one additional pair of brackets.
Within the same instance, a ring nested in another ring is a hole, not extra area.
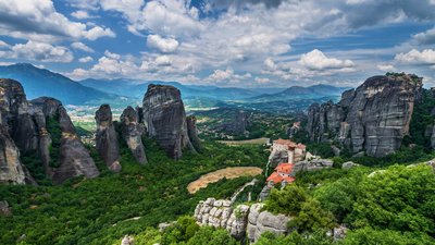
[[(190, 106), (233, 105), (247, 107), (253, 103), (276, 101), (299, 101), (339, 97), (346, 89), (330, 85), (310, 87), (293, 86), (289, 88), (239, 88), (201, 85), (184, 85), (177, 82), (135, 81), (135, 79), (84, 79), (75, 82), (64, 75), (39, 69), (32, 64), (18, 63), (0, 66), (1, 78), (20, 81), (26, 90), (28, 99), (49, 96), (65, 105), (111, 103), (120, 108), (130, 103), (141, 103), (149, 84), (172, 85), (178, 88), (183, 99)], [(262, 106), (261, 106), (262, 107)]]

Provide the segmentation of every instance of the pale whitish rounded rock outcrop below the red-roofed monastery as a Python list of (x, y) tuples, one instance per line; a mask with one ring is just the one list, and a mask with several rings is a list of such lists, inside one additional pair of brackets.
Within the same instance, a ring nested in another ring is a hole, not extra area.
[(202, 225), (226, 229), (234, 237), (248, 237), (251, 243), (257, 242), (265, 231), (285, 234), (289, 218), (261, 211), (261, 208), (262, 204), (238, 205), (233, 208), (229, 200), (208, 198), (198, 204), (194, 217)]

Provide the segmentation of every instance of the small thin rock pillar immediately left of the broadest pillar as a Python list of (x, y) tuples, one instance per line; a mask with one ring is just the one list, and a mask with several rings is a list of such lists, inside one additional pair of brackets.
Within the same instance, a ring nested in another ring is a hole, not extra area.
[(139, 163), (146, 163), (147, 156), (145, 155), (145, 147), (142, 144), (145, 128), (139, 124), (138, 113), (133, 107), (127, 107), (121, 114), (121, 131), (135, 159)]

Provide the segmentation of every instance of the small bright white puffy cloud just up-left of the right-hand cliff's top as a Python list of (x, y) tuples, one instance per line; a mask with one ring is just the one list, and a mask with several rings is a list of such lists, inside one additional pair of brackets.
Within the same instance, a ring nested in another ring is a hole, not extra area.
[(327, 58), (319, 49), (314, 49), (311, 52), (303, 53), (300, 57), (299, 63), (310, 70), (345, 69), (355, 66), (355, 63), (351, 60), (338, 60), (335, 58)]

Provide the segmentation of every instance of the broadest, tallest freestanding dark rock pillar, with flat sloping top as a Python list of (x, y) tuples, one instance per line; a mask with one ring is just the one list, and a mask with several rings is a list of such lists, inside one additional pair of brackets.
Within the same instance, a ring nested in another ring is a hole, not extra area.
[(149, 85), (144, 97), (144, 123), (148, 135), (174, 159), (188, 148), (196, 151), (187, 131), (186, 112), (177, 88), (166, 85)]

